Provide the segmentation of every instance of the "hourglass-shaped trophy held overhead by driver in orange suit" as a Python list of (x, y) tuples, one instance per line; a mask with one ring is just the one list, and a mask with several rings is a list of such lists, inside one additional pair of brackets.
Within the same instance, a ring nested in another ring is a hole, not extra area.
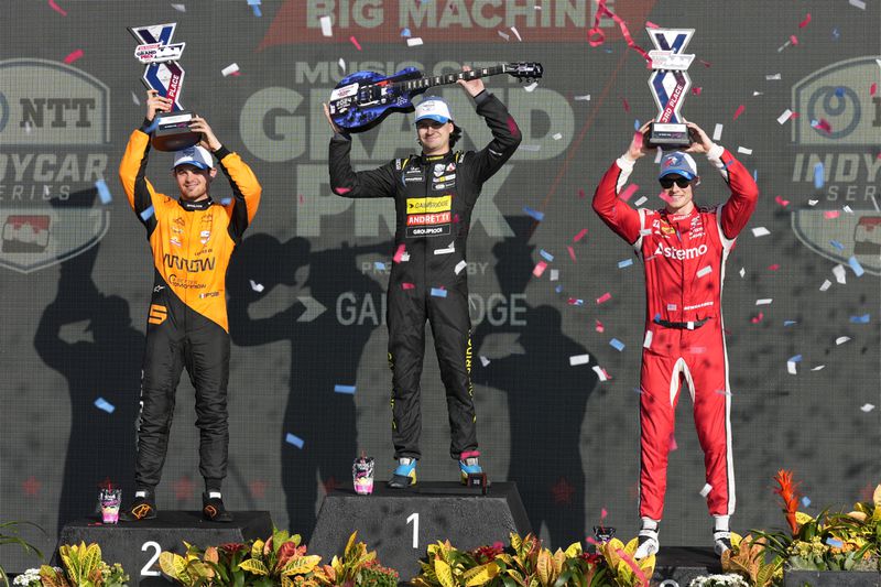
[(202, 135), (189, 130), (193, 112), (181, 107), (184, 89), (184, 68), (177, 61), (186, 43), (172, 43), (176, 22), (152, 26), (132, 26), (129, 32), (138, 40), (134, 56), (145, 65), (141, 77), (146, 89), (155, 89), (160, 96), (173, 101), (171, 112), (159, 112), (151, 143), (159, 151), (181, 151), (199, 142)]

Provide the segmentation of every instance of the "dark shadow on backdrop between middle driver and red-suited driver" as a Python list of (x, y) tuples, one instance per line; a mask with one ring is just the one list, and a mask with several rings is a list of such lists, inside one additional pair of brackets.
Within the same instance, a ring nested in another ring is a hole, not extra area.
[[(492, 248), (505, 297), (525, 292), (535, 249), (527, 242), (533, 219), (515, 216), (507, 220), (514, 237)], [(592, 365), (569, 366), (569, 357), (585, 355), (587, 349), (563, 334), (558, 309), (526, 304), (524, 322), (524, 326), (496, 327), (485, 320), (477, 327), (474, 348), (478, 356), (487, 337), (501, 333), (519, 335), (525, 355), (491, 359), (486, 367), (476, 361), (471, 378), (507, 393), (511, 420), (508, 480), (516, 482), (533, 531), (537, 534), (545, 524), (552, 544), (565, 547), (585, 536), (581, 424), (597, 376)], [(531, 382), (542, 387), (531, 388)]]

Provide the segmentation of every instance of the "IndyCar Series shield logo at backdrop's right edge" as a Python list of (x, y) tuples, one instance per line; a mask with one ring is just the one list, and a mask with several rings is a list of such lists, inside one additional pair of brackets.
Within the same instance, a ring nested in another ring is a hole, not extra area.
[(828, 65), (793, 86), (792, 182), (803, 203), (819, 202), (793, 211), (792, 227), (817, 254), (845, 264), (856, 257), (880, 275), (881, 93), (871, 95), (872, 83), (881, 86), (877, 55)]

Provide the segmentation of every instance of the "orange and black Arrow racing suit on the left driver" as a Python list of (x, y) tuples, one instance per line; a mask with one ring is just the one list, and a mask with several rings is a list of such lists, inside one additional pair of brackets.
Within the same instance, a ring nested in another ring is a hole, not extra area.
[(119, 166), (129, 204), (146, 228), (154, 268), (134, 481), (139, 490), (159, 485), (175, 391), (186, 367), (196, 388), (199, 472), (206, 489), (220, 490), (229, 445), (226, 273), (257, 213), (261, 188), (239, 155), (221, 146), (214, 155), (233, 197), (188, 203), (160, 194), (145, 176), (150, 137), (143, 130), (131, 133)]

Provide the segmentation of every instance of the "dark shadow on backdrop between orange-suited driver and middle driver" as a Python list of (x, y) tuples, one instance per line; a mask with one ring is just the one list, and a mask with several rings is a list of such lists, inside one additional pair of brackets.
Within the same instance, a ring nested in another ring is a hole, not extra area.
[[(344, 242), (339, 249), (312, 252), (304, 238), (281, 242), (258, 233), (242, 241), (230, 265), (227, 292), (232, 341), (242, 347), (290, 343), (280, 465), (289, 528), (305, 541), (315, 526), (318, 482), (329, 490), (351, 476), (357, 456), (355, 398), (336, 393), (334, 388), (356, 384), (361, 354), (376, 328), (372, 323), (341, 325), (336, 316), (337, 298), (354, 292), (379, 300), (382, 285), (359, 271), (357, 257), (388, 254), (390, 249), (390, 242), (369, 247)], [(307, 269), (308, 276), (297, 284), (296, 275), (305, 273), (297, 271), (301, 268)], [(251, 280), (264, 290), (255, 292)], [(250, 317), (249, 306), (278, 285), (307, 287), (308, 296), (298, 296), (271, 317)], [(285, 442), (289, 433), (303, 441), (302, 448)]]

